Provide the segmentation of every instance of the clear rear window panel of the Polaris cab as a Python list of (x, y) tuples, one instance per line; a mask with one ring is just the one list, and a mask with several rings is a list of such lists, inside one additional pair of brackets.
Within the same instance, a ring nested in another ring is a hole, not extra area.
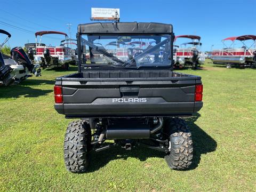
[(81, 65), (169, 66), (170, 35), (82, 35)]

